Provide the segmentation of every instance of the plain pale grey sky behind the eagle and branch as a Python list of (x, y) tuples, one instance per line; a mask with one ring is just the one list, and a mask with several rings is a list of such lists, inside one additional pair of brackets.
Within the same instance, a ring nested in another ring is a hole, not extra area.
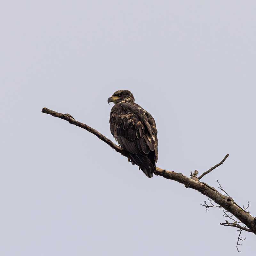
[[(113, 140), (118, 89), (154, 116), (158, 166), (255, 198), (255, 1), (5, 1), (1, 8), (0, 254), (236, 255), (220, 209), (148, 179)], [(244, 234), (243, 255), (255, 236)]]

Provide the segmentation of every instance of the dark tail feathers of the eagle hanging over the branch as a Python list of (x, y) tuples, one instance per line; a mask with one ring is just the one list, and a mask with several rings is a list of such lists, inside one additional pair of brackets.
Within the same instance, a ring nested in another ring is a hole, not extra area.
[(132, 162), (138, 165), (148, 178), (153, 177), (153, 173), (156, 170), (156, 164), (152, 164), (147, 155), (130, 154), (130, 157)]

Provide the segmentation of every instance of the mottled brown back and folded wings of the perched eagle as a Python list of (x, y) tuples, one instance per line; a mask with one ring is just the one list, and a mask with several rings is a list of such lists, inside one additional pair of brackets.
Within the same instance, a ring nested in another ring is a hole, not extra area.
[(110, 131), (119, 145), (133, 154), (155, 151), (157, 130), (154, 118), (136, 103), (116, 104), (110, 113)]

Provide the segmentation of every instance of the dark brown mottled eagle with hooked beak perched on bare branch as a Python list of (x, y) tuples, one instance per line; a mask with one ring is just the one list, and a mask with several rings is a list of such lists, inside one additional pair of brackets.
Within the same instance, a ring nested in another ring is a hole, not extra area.
[(152, 178), (158, 158), (157, 130), (154, 118), (134, 103), (132, 92), (119, 90), (108, 98), (114, 102), (110, 112), (110, 131), (119, 146), (129, 152), (132, 164)]

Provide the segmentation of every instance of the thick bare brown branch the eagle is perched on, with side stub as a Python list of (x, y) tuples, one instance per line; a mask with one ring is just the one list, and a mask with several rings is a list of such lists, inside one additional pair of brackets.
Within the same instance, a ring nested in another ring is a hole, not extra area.
[[(57, 113), (57, 112), (52, 111), (48, 108), (43, 108), (42, 112), (45, 113), (45, 114), (50, 114), (52, 116), (64, 119), (64, 120), (68, 121), (70, 124), (75, 124), (76, 126), (79, 126), (83, 129), (91, 132), (92, 134), (96, 135), (100, 140), (107, 143), (111, 148), (115, 149), (117, 152), (119, 152), (123, 156), (128, 157), (127, 152), (123, 148), (117, 146), (111, 140), (109, 140), (108, 138), (103, 136), (100, 132), (96, 131), (95, 129), (91, 128), (90, 126), (76, 121), (69, 114)], [(228, 155), (225, 156), (225, 158), (219, 164), (216, 164), (215, 166), (217, 167), (220, 164), (222, 164), (226, 160), (227, 157), (228, 157)], [(215, 166), (212, 167), (211, 169), (212, 170), (215, 169), (216, 168)], [(211, 171), (210, 170), (208, 170), (207, 173), (212, 171), (212, 170)], [(233, 198), (231, 198), (229, 196), (224, 196), (220, 192), (218, 192), (216, 189), (209, 186), (208, 184), (190, 179), (190, 178), (188, 178), (187, 176), (183, 175), (180, 172), (166, 171), (165, 169), (161, 169), (159, 167), (156, 167), (155, 175), (162, 176), (165, 179), (178, 181), (178, 182), (184, 184), (185, 187), (195, 189), (195, 190), (199, 191), (201, 194), (203, 194), (205, 196), (208, 196), (216, 204), (219, 204), (225, 210), (227, 210), (228, 212), (233, 214), (238, 220), (240, 220), (242, 223), (244, 223), (248, 227), (247, 228), (248, 230), (251, 230), (251, 232), (256, 234), (256, 225), (254, 224), (254, 218), (248, 212), (246, 212), (243, 208), (238, 206), (235, 203), (235, 201), (233, 200)], [(246, 231), (248, 231), (248, 230), (246, 230)]]

